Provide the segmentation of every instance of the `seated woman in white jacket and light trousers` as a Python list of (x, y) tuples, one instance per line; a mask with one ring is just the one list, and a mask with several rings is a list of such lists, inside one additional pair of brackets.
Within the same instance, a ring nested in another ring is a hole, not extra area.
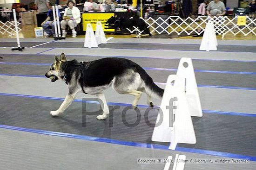
[(73, 0), (67, 1), (67, 8), (65, 9), (63, 20), (61, 21), (62, 37), (67, 35), (66, 26), (68, 25), (72, 30), (72, 37), (76, 37), (76, 31), (74, 27), (81, 22), (80, 10), (74, 6)]

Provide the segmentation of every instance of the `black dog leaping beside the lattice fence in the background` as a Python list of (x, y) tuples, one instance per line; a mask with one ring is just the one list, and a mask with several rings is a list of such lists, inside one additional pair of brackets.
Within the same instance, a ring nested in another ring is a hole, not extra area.
[(118, 18), (118, 17), (112, 16), (111, 18), (108, 19), (105, 26), (108, 26), (108, 27), (105, 27), (105, 29), (117, 29), (117, 28), (126, 29), (126, 28), (131, 28), (135, 26), (135, 27), (138, 27), (139, 30), (143, 31), (142, 33), (152, 36), (145, 21), (138, 17), (126, 19), (126, 18)]

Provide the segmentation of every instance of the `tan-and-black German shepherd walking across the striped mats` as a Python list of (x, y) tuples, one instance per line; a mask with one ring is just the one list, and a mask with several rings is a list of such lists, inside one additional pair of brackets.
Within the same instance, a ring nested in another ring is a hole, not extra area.
[(98, 120), (108, 117), (109, 109), (103, 91), (110, 86), (119, 94), (131, 94), (135, 96), (132, 103), (136, 108), (142, 92), (148, 96), (148, 105), (153, 107), (152, 96), (162, 98), (164, 90), (159, 88), (148, 76), (146, 71), (138, 64), (124, 58), (102, 58), (99, 60), (81, 62), (77, 60), (67, 61), (64, 53), (60, 58), (56, 55), (50, 70), (45, 74), (51, 82), (62, 80), (68, 85), (68, 93), (56, 111), (51, 111), (52, 116), (63, 113), (75, 99), (78, 92), (96, 95), (103, 101), (103, 114), (98, 115)]

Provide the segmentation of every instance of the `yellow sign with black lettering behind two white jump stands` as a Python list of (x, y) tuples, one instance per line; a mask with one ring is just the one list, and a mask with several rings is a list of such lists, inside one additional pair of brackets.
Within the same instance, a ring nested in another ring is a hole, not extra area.
[(82, 21), (83, 21), (83, 31), (86, 31), (87, 24), (92, 24), (93, 30), (96, 31), (96, 23), (97, 21), (101, 21), (101, 25), (103, 26), (103, 31), (111, 31), (114, 32), (115, 29), (105, 29), (104, 24), (107, 20), (115, 16), (115, 13), (83, 13)]

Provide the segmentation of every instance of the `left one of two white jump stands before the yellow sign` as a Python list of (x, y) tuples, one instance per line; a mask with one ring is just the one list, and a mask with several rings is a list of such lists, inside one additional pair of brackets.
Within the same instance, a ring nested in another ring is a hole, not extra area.
[(88, 47), (88, 48), (98, 47), (98, 44), (94, 35), (94, 31), (93, 31), (93, 26), (91, 24), (87, 24), (86, 26), (84, 47)]

